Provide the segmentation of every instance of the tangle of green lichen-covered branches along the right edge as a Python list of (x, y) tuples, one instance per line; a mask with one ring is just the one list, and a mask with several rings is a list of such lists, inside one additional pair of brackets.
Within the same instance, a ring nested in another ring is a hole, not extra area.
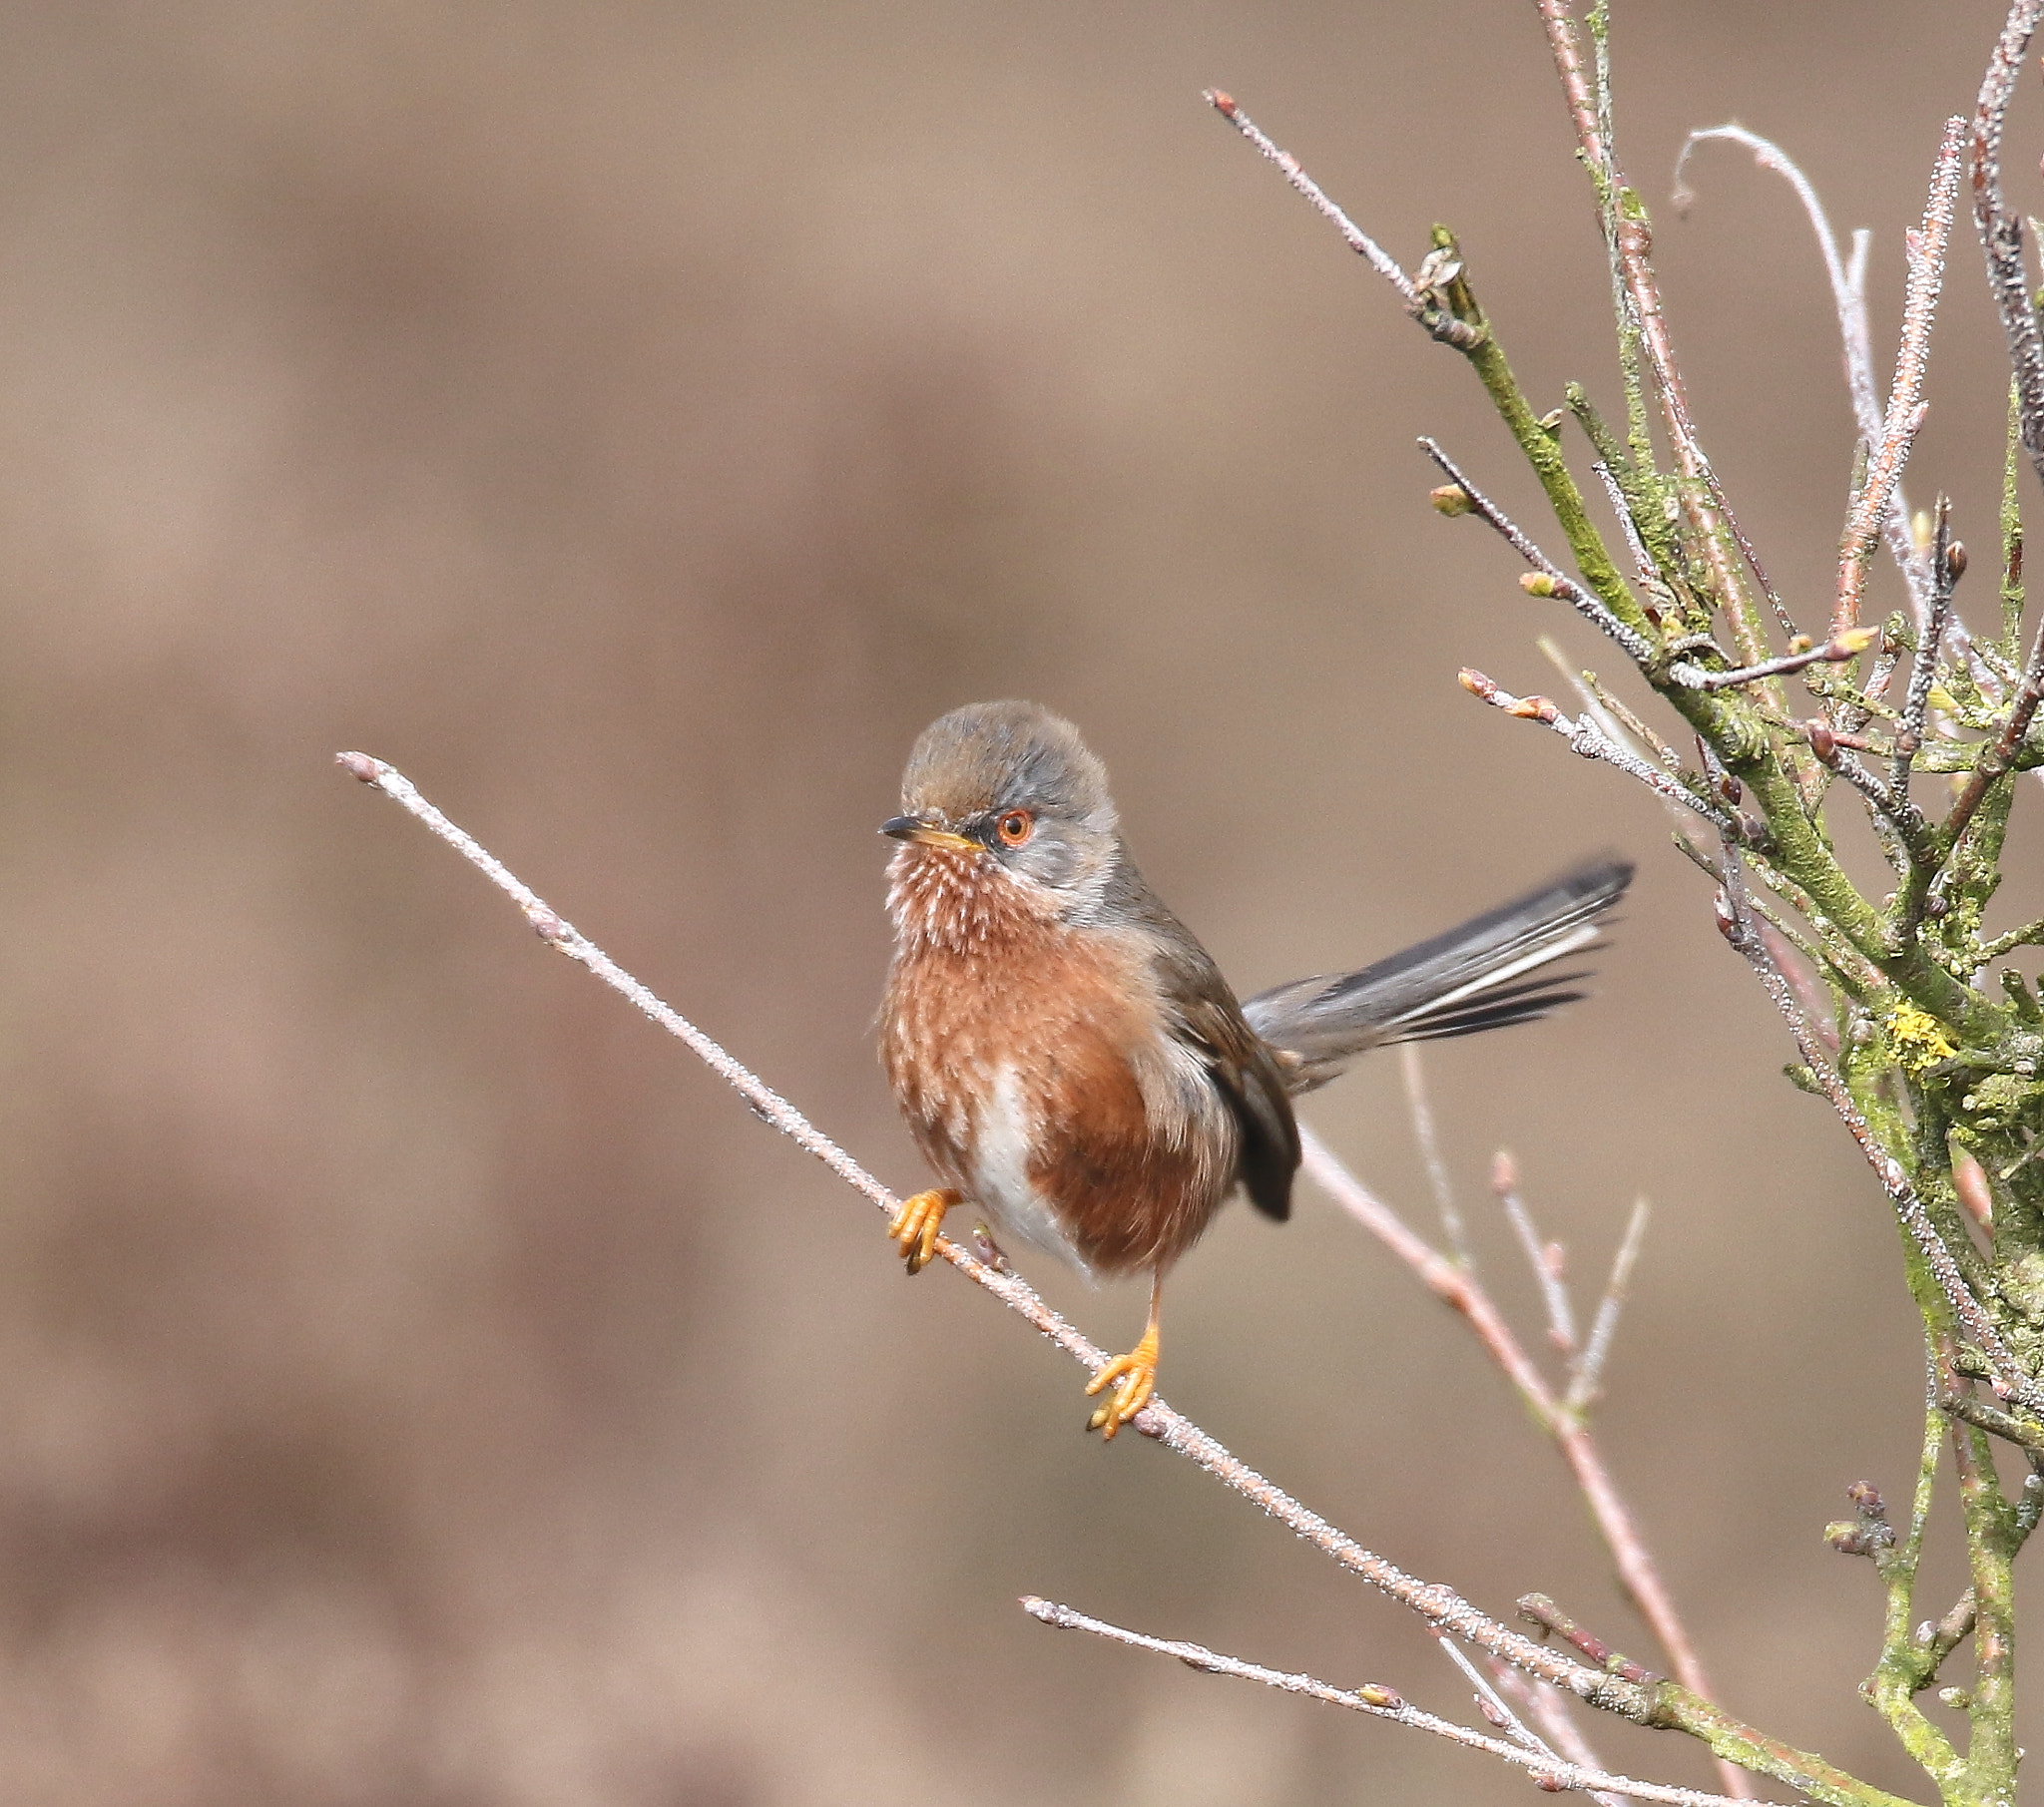
[[(2034, 1488), (2019, 1507), (2009, 1504), (1991, 1439), (2032, 1451), (2044, 1445), (2044, 1010), (2026, 977), (2005, 963), (2044, 942), (2044, 922), (1999, 934), (1985, 924), (2003, 877), (2017, 777), (2044, 769), (2044, 628), (2024, 648), (2017, 486), (2026, 462), (2044, 476), (2044, 327), (2032, 300), (2022, 221), (2001, 198), (1999, 149), (2015, 72), (2044, 0), (2015, 0), (1972, 119), (1944, 127), (1921, 221), (1905, 235), (1903, 329), (1885, 403), (1876, 403), (1866, 348), (1858, 348), (1854, 368), (1864, 372), (1866, 395), (1856, 401), (1862, 437), (1836, 591), (1801, 609), (1805, 619), (1829, 623), (1823, 638), (1791, 626), (1793, 611), (1739, 531), (1703, 450), (1654, 272), (1652, 221), (1613, 149), (1607, 4), (1594, 0), (1582, 25), (1570, 0), (1535, 6), (1605, 241), (1623, 431), (1605, 423), (1580, 382), (1566, 386), (1564, 407), (1535, 405), (1513, 372), (1498, 321), (1478, 296), (1468, 249), (1447, 227), (1433, 229), (1425, 258), (1406, 276), (1233, 100), (1218, 96), (1216, 106), (1341, 225), (1421, 329), (1468, 362), (1541, 486), (1562, 542), (1558, 556), (1541, 548), (1537, 531), (1504, 517), (1433, 442), (1423, 442), (1451, 478), (1433, 493), (1435, 507), (1478, 515), (1496, 529), (1531, 566), (1521, 587), (1568, 603), (1598, 628), (1631, 681), (1694, 738), (1694, 762), (1676, 756), (1617, 687), (1594, 677), (1586, 677), (1584, 713), (1572, 720), (1545, 697), (1515, 695), (1480, 673), (1461, 675), (1486, 703), (1547, 726), (1578, 754), (1645, 783), (1686, 824), (1678, 844), (1717, 873), (1727, 940), (1788, 1018), (1803, 1057), (1791, 1077), (1831, 1102), (1880, 1179), (1927, 1345), (1950, 1351), (1946, 1372), (1958, 1378), (1934, 1390), (1927, 1408), (1909, 1533), (1891, 1535), (1876, 1554), (1887, 1613), (1866, 1693), (1946, 1801), (2001, 1801), (2015, 1764), (2007, 1574), (2036, 1513)], [(1968, 634), (1956, 609), (1968, 566), (1954, 531), (1958, 511), (1940, 499), (1930, 517), (1911, 525), (1897, 501), (1927, 411), (1932, 325), (1966, 172), (2013, 370), (1995, 521), (1997, 636)], [(1848, 339), (1864, 335), (1864, 298), (1842, 292), (1840, 317)], [(1848, 362), (1852, 356), (1848, 343)], [(1596, 476), (1588, 489), (1576, 474), (1578, 460)], [(1623, 536), (1623, 558), (1588, 507), (1586, 497), (1598, 489)], [(1883, 538), (1903, 564), (1915, 613), (1860, 626)], [(1770, 646), (1762, 632), (1756, 585), (1784, 646)], [(1797, 683), (1809, 697), (1803, 713), (1786, 703)], [(1889, 865), (1880, 889), (1862, 883), (1840, 852), (1838, 812), (1858, 814), (1872, 830)], [(1711, 852), (1711, 840), (1721, 842), (1723, 859)], [(1746, 893), (1748, 865), (1772, 901)], [(1807, 971), (1797, 969), (1799, 961)], [(1977, 1398), (1964, 1376), (1991, 1382), (1997, 1400)], [(1962, 1625), (1948, 1615), (1923, 1641), (1909, 1629), (1909, 1613), (1946, 1435), (1972, 1588)], [(1968, 1637), (1977, 1680), (1960, 1690), (1968, 1711), (1960, 1752), (1915, 1697)], [(1713, 1733), (1703, 1719), (1684, 1729), (1707, 1742), (1754, 1735), (1744, 1727)]]

